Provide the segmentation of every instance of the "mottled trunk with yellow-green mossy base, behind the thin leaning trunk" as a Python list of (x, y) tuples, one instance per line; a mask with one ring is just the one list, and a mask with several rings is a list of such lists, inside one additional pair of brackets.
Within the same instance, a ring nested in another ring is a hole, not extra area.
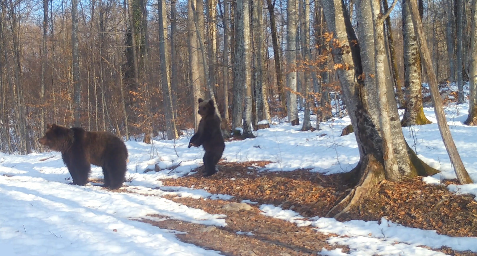
[(417, 48), (409, 6), (403, 1), (404, 87), (406, 88), (402, 126), (432, 123), (424, 114), (422, 104), (421, 56)]

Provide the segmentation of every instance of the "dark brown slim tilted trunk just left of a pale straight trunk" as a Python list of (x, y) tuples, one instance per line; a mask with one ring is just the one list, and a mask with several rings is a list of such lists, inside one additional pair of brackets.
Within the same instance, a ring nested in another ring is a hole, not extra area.
[(279, 91), (279, 100), (281, 103), (281, 113), (282, 116), (285, 116), (287, 113), (287, 102), (285, 97), (285, 90), (283, 88), (283, 75), (281, 73), (281, 64), (280, 64), (280, 47), (278, 45), (278, 32), (277, 26), (275, 23), (275, 1), (273, 4), (271, 0), (267, 0), (267, 8), (270, 14), (270, 31), (271, 31), (271, 41), (273, 45), (273, 61), (275, 63), (275, 74), (277, 76), (277, 88)]

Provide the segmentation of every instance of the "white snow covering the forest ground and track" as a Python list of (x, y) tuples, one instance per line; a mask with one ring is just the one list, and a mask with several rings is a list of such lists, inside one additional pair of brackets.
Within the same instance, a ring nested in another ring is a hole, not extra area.
[[(477, 182), (477, 127), (463, 125), (467, 107), (467, 104), (452, 105), (446, 108), (446, 113), (462, 160)], [(442, 171), (425, 178), (425, 182), (455, 178), (433, 109), (426, 108), (425, 114), (433, 124), (403, 128), (416, 153)], [(228, 162), (271, 161), (264, 168), (271, 171), (311, 168), (312, 172), (323, 174), (348, 172), (359, 161), (354, 134), (339, 136), (348, 124), (350, 120), (345, 117), (321, 123), (320, 131), (300, 132), (301, 127), (275, 121), (271, 128), (255, 132), (255, 139), (227, 142), (223, 158)], [(162, 186), (162, 179), (190, 174), (202, 164), (202, 150), (187, 148), (188, 139), (186, 136), (178, 140), (154, 140), (152, 144), (126, 142), (129, 181), (124, 183), (127, 187), (123, 190), (134, 190), (134, 194), (110, 192), (94, 184), (69, 185), (70, 175), (60, 153), (0, 153), (0, 255), (219, 255), (220, 252), (179, 241), (174, 230), (137, 221), (150, 218), (149, 215), (164, 215), (205, 225), (226, 225), (226, 215), (212, 215), (162, 197), (176, 194), (230, 198), (205, 190)], [(172, 171), (144, 173), (156, 164), (167, 168), (179, 163)], [(93, 179), (102, 178), (99, 167), (92, 170)], [(449, 189), (477, 195), (477, 183), (452, 185)], [(385, 219), (380, 223), (358, 220), (341, 223), (330, 218), (306, 219), (273, 205), (259, 207), (264, 215), (338, 235), (328, 242), (349, 246), (351, 255), (442, 255), (421, 245), (477, 252), (477, 238), (473, 237), (437, 235), (434, 231), (407, 228)], [(321, 254), (345, 255), (339, 249), (324, 250)]]

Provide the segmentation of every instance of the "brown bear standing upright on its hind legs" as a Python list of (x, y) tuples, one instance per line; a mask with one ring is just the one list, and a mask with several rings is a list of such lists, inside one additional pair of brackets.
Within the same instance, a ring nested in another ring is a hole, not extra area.
[(199, 98), (200, 119), (197, 133), (190, 138), (189, 148), (202, 145), (206, 153), (204, 154), (205, 176), (215, 174), (215, 165), (222, 157), (225, 149), (224, 137), (220, 131), (220, 118), (215, 113), (214, 101), (204, 101)]

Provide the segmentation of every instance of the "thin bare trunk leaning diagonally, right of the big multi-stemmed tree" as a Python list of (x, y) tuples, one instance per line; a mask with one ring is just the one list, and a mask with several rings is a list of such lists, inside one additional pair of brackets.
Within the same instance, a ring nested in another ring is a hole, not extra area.
[(446, 114), (442, 108), (441, 97), (439, 94), (439, 88), (437, 85), (436, 74), (434, 73), (431, 55), (427, 49), (427, 44), (424, 37), (424, 29), (422, 26), (422, 21), (419, 19), (419, 12), (417, 9), (416, 0), (406, 0), (409, 4), (412, 14), (412, 20), (414, 25), (414, 31), (417, 36), (417, 44), (419, 45), (419, 51), (421, 52), (421, 59), (424, 61), (425, 72), (427, 78), (429, 79), (429, 89), (431, 91), (431, 99), (434, 104), (434, 112), (436, 113), (437, 125), (439, 127), (439, 132), (441, 133), (442, 140), (446, 146), (447, 154), (451, 163), (454, 165), (454, 170), (456, 172), (457, 179), (461, 184), (472, 183), (467, 170), (460, 159), (460, 155), (457, 152), (456, 144), (452, 139), (452, 135), (449, 130), (449, 125), (447, 124)]

